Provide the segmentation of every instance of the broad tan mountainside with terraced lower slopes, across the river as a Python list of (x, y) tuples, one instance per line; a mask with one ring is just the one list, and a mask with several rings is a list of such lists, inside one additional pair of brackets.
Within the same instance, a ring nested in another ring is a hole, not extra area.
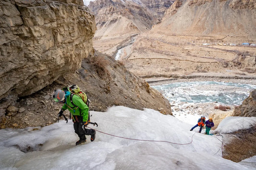
[(123, 47), (121, 60), (150, 77), (256, 77), (256, 1), (176, 0), (161, 23)]

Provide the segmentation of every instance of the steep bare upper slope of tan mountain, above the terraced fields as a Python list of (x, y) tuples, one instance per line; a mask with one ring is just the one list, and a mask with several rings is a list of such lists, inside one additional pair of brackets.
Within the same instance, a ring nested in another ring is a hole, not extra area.
[(176, 0), (175, 4), (180, 4), (175, 15), (169, 9), (152, 33), (232, 36), (249, 43), (256, 39), (256, 1)]

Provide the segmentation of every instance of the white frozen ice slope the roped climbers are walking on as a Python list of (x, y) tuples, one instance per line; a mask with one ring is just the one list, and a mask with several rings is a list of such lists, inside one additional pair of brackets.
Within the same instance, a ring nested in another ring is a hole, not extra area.
[[(123, 106), (110, 107), (107, 112), (91, 112), (91, 115), (91, 121), (98, 123), (98, 127), (89, 125), (98, 130), (96, 140), (81, 146), (75, 146), (78, 137), (70, 120), (67, 124), (62, 120), (38, 129), (1, 129), (0, 169), (256, 170), (256, 156), (240, 163), (223, 159), (222, 138), (204, 135), (204, 131), (197, 133), (197, 128), (189, 131), (194, 121), (188, 124), (151, 109), (140, 111)], [(237, 123), (243, 128), (255, 125), (256, 118), (229, 117), (224, 123), (219, 127), (227, 133), (236, 129)], [(34, 151), (20, 151), (26, 148)]]

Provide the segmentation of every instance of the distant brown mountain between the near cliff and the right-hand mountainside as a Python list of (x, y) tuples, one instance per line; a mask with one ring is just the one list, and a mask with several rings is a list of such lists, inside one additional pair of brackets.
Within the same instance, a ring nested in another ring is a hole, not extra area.
[(171, 0), (91, 1), (88, 8), (95, 14), (97, 23), (94, 47), (113, 55), (127, 38), (149, 31), (171, 4)]

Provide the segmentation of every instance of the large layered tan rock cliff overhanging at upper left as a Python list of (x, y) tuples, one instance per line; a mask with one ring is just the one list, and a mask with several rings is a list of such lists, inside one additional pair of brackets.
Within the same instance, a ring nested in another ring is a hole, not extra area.
[(0, 113), (79, 68), (95, 29), (82, 0), (1, 0)]

